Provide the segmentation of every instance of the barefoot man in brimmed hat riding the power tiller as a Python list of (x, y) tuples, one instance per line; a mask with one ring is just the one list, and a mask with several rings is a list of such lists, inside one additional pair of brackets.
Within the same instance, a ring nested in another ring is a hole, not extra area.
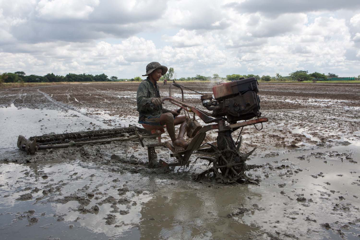
[[(158, 62), (151, 62), (146, 66), (146, 74), (148, 76), (143, 80), (136, 93), (136, 103), (138, 105), (139, 123), (149, 124), (153, 126), (163, 126), (166, 124), (166, 130), (172, 141), (174, 148), (179, 151), (186, 149), (188, 143), (184, 140), (186, 131), (186, 117), (178, 116), (176, 111), (162, 108), (163, 101), (160, 98), (159, 86), (157, 82), (167, 72), (167, 67)], [(175, 136), (175, 125), (179, 125), (179, 136)]]

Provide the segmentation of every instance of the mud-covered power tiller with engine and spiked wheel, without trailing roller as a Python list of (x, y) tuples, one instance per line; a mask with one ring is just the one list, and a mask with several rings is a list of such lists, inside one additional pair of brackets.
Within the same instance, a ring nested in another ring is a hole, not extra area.
[[(179, 87), (182, 93), (182, 100), (179, 101), (171, 97), (171, 87)], [(176, 152), (174, 148), (168, 143), (150, 144), (148, 145), (149, 162), (155, 164), (156, 152), (155, 147), (167, 146), (173, 153), (171, 157), (177, 158), (177, 163), (166, 163), (160, 160), (159, 164), (162, 166), (188, 166), (190, 155), (196, 149), (204, 148), (204, 146), (210, 146), (213, 154), (211, 157), (199, 157), (201, 159), (208, 160), (209, 168), (203, 173), (197, 175), (195, 179), (199, 180), (204, 176), (212, 176), (214, 178), (221, 178), (224, 181), (239, 182), (249, 179), (245, 171), (248, 169), (245, 164), (248, 156), (255, 150), (244, 154), (240, 153), (242, 137), (241, 131), (238, 136), (237, 142), (233, 140), (231, 133), (242, 128), (244, 126), (267, 122), (267, 118), (260, 118), (260, 98), (258, 93), (258, 82), (255, 78), (246, 78), (228, 83), (221, 83), (213, 87), (212, 94), (202, 94), (202, 105), (212, 111), (206, 112), (195, 108), (189, 104), (184, 103), (183, 87), (177, 83), (170, 85), (170, 96), (163, 98), (164, 101), (170, 101), (183, 108), (186, 112), (193, 112), (207, 125), (199, 127), (194, 118), (188, 118), (188, 125), (190, 127), (188, 136), (193, 137), (189, 144), (189, 147), (184, 151)], [(185, 87), (189, 89), (188, 87)], [(192, 90), (192, 89), (189, 89)], [(193, 90), (192, 90), (193, 91)], [(252, 119), (254, 118), (254, 119)], [(242, 122), (238, 122), (242, 121)], [(213, 123), (213, 124), (211, 124)], [(195, 131), (191, 131), (194, 130)], [(255, 127), (257, 130), (261, 130)], [(207, 131), (217, 130), (217, 141), (215, 143), (204, 143), (203, 140)], [(192, 135), (192, 136), (191, 136)], [(211, 166), (212, 164), (212, 166)], [(211, 167), (210, 167), (211, 166)]]

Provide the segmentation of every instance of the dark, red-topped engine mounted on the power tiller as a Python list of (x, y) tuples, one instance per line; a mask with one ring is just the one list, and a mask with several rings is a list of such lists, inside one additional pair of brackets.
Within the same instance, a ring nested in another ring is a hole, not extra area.
[(216, 85), (212, 92), (214, 96), (202, 95), (201, 101), (213, 111), (214, 117), (226, 116), (229, 123), (234, 123), (261, 116), (258, 82), (254, 77)]

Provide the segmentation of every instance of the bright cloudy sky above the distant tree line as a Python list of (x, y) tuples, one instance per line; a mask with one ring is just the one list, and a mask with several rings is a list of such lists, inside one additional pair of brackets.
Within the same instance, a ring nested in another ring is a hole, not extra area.
[(360, 0), (0, 0), (0, 73), (360, 74)]

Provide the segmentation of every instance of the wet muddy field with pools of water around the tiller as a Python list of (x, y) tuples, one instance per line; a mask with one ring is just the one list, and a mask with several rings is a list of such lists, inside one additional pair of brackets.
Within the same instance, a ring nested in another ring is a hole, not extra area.
[[(299, 94), (302, 87), (284, 93), (284, 86), (280, 90), (266, 85), (262, 112), (269, 123), (262, 131), (247, 127), (242, 132), (242, 151), (257, 147), (247, 163), (261, 167), (247, 174), (260, 180), (258, 185), (193, 182), (191, 173), (205, 170), (206, 161), (198, 160), (191, 171), (147, 169), (142, 165), (147, 151), (137, 142), (35, 156), (16, 148), (18, 134), (136, 124), (132, 103), (119, 104), (134, 101), (131, 87), (0, 92), (0, 104), (7, 107), (0, 108), (2, 238), (359, 239), (360, 98), (334, 99), (328, 87), (318, 90), (326, 98), (294, 98), (292, 92)], [(189, 101), (197, 101), (191, 92), (185, 93)], [(90, 101), (90, 94), (96, 101)], [(215, 137), (210, 133), (206, 141)], [(168, 151), (157, 153), (172, 161)], [(138, 164), (114, 162), (112, 154)]]

